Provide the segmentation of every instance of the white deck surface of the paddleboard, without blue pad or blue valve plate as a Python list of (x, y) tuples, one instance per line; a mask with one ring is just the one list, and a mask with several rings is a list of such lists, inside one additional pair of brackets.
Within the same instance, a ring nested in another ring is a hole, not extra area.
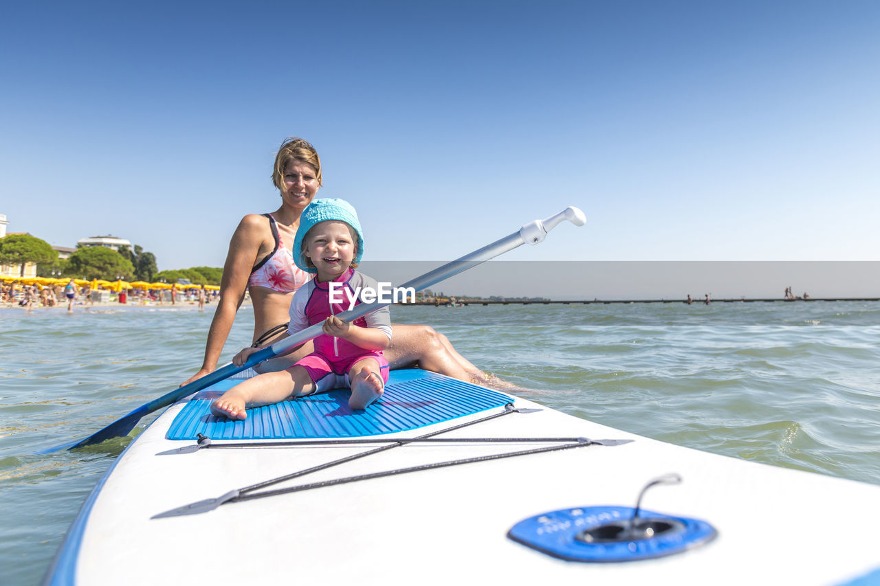
[[(107, 472), (71, 527), (48, 582), (644, 586), (841, 584), (866, 575), (865, 583), (880, 582), (880, 486), (657, 442), (525, 399), (516, 399), (515, 406), (539, 411), (437, 437), (633, 441), (228, 503), (199, 515), (152, 518), (373, 447), (158, 455), (193, 443), (165, 439), (184, 403), (158, 417)], [(391, 436), (419, 436), (502, 410)], [(546, 445), (410, 443), (272, 488)], [(714, 525), (717, 537), (704, 546), (655, 560), (581, 563), (556, 559), (507, 537), (511, 526), (546, 511), (634, 506), (649, 480), (670, 472), (683, 482), (652, 488), (642, 506)]]

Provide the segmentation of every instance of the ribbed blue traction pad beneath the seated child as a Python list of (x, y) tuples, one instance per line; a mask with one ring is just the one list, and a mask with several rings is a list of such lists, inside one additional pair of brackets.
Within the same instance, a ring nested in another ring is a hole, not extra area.
[(240, 380), (223, 380), (196, 393), (172, 421), (166, 437), (214, 440), (356, 437), (390, 434), (503, 407), (502, 392), (425, 370), (393, 370), (385, 392), (364, 411), (348, 408), (348, 389), (337, 389), (247, 410), (245, 421), (210, 414), (211, 402)]

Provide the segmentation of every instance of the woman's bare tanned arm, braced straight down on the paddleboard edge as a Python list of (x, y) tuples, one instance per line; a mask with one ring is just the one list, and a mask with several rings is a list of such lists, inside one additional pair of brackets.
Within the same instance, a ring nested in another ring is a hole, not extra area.
[[(267, 220), (263, 216), (249, 214), (238, 223), (238, 228), (232, 234), (229, 243), (229, 252), (226, 253), (226, 261), (223, 267), (223, 277), (220, 281), (220, 301), (214, 311), (214, 319), (208, 330), (208, 341), (205, 344), (205, 356), (202, 368), (192, 377), (187, 378), (182, 385), (187, 385), (198, 378), (213, 372), (217, 361), (223, 352), (226, 339), (235, 321), (238, 307), (245, 299), (247, 279), (251, 275), (251, 268), (257, 262), (260, 255), (260, 247), (267, 235)], [(269, 233), (269, 236), (271, 234)], [(273, 245), (275, 241), (273, 239)]]

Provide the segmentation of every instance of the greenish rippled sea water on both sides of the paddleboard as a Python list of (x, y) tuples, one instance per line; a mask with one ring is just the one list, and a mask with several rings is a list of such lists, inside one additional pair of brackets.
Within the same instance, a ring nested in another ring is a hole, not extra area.
[[(152, 417), (128, 438), (37, 452), (193, 374), (212, 311), (0, 310), (0, 584), (40, 582), (92, 487)], [(880, 484), (880, 303), (395, 306), (392, 319), (434, 326), (516, 394), (568, 414)], [(222, 363), (252, 326), (243, 307)]]

